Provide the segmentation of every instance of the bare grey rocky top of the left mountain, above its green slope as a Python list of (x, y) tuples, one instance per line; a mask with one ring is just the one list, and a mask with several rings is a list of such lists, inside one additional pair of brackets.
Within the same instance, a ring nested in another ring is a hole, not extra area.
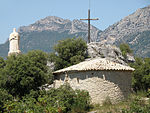
[[(87, 23), (80, 20), (68, 20), (62, 19), (56, 16), (48, 16), (44, 19), (36, 21), (35, 23), (29, 26), (22, 26), (19, 28), (19, 33), (25, 32), (42, 32), (42, 31), (50, 31), (50, 32), (68, 32), (68, 34), (78, 34), (84, 33), (85, 35), (81, 35), (84, 39), (87, 37)], [(96, 41), (100, 36), (100, 30), (91, 25), (91, 39), (92, 41)], [(78, 35), (76, 35), (78, 36)]]

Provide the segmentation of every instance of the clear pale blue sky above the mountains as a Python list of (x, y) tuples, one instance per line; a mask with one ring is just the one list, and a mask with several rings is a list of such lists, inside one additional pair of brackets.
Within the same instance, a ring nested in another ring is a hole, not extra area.
[(47, 16), (63, 19), (99, 18), (91, 24), (100, 30), (150, 5), (150, 0), (0, 0), (0, 43), (6, 42), (13, 28), (28, 26)]

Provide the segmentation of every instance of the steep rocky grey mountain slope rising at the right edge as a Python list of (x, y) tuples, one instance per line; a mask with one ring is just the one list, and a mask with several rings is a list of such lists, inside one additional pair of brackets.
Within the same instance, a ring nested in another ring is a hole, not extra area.
[(105, 29), (99, 41), (116, 45), (128, 43), (137, 56), (150, 57), (150, 6), (138, 9)]

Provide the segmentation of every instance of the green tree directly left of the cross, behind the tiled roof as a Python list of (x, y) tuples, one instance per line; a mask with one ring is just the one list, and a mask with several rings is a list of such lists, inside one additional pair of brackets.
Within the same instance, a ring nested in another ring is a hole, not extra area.
[(54, 46), (49, 60), (55, 63), (55, 70), (62, 69), (83, 61), (86, 58), (86, 42), (81, 38), (61, 40)]

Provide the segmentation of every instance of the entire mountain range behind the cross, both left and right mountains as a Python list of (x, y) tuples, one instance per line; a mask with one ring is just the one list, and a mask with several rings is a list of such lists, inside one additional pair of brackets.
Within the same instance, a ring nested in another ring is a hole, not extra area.
[[(51, 52), (58, 40), (79, 36), (86, 40), (87, 28), (80, 20), (49, 16), (19, 28), (20, 48), (23, 53), (33, 49)], [(104, 31), (91, 26), (91, 38), (92, 42), (101, 44), (128, 43), (136, 56), (150, 57), (150, 6), (138, 9)], [(8, 44), (6, 41), (0, 45), (0, 56), (7, 56)]]

